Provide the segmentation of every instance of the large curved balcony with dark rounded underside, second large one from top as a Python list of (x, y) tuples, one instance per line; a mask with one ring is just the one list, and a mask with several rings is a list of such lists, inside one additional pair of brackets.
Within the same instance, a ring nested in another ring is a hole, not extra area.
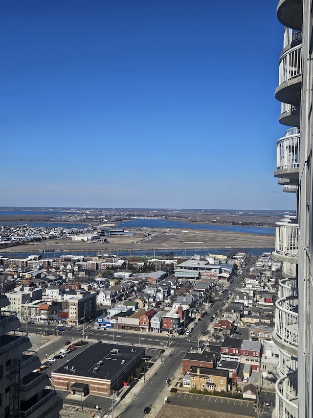
[(279, 60), (279, 81), (275, 90), (277, 100), (300, 106), (302, 44), (283, 50)]

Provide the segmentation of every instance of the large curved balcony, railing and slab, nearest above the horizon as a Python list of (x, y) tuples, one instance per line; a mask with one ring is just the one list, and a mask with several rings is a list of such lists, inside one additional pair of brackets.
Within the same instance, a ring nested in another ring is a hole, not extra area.
[(298, 179), (299, 178), (299, 128), (291, 128), (286, 131), (286, 136), (277, 141), (277, 170), (275, 177)]

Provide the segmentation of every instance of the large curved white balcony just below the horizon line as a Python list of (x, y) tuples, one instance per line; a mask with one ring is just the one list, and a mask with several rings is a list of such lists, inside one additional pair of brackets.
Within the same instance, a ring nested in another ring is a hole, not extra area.
[(272, 253), (275, 260), (298, 263), (298, 223), (295, 217), (285, 216), (276, 222), (275, 251)]

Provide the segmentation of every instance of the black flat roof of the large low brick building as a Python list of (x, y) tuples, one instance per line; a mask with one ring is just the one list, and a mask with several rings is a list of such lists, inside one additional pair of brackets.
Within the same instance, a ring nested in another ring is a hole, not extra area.
[[(79, 349), (80, 347), (77, 348), (75, 353)], [(113, 349), (117, 349), (118, 352), (112, 353)], [(68, 360), (66, 364), (56, 369), (52, 374), (60, 373), (112, 380), (116, 374), (129, 366), (135, 357), (144, 357), (144, 355), (145, 348), (142, 347), (97, 343), (89, 345), (86, 350)], [(101, 366), (98, 366), (97, 363), (100, 361), (103, 363)], [(95, 367), (99, 368), (96, 373), (93, 371)]]

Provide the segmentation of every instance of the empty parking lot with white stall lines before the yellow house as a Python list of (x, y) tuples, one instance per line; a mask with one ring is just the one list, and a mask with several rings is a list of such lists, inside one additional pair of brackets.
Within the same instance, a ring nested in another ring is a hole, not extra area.
[(172, 405), (177, 406), (207, 409), (223, 413), (231, 411), (233, 414), (238, 414), (242, 417), (256, 417), (253, 400), (233, 399), (195, 393), (175, 393), (169, 400)]

